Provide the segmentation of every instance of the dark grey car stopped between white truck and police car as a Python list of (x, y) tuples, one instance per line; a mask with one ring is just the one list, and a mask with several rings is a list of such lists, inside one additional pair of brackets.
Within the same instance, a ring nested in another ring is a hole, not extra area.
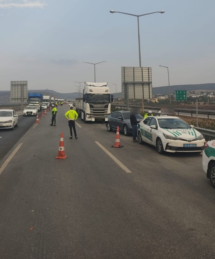
[[(143, 119), (143, 117), (139, 114), (135, 114), (135, 116), (137, 118), (137, 122)], [(119, 131), (123, 132), (125, 136), (133, 133), (129, 111), (114, 111), (107, 118), (107, 131), (111, 132), (113, 129), (116, 130), (117, 126), (119, 126)]]

